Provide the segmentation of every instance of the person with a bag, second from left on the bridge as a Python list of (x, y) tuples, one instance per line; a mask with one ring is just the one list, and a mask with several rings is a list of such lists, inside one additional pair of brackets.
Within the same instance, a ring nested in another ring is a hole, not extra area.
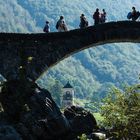
[(56, 23), (56, 29), (58, 32), (65, 32), (68, 31), (68, 28), (66, 26), (65, 20), (63, 16), (60, 16), (60, 19)]

